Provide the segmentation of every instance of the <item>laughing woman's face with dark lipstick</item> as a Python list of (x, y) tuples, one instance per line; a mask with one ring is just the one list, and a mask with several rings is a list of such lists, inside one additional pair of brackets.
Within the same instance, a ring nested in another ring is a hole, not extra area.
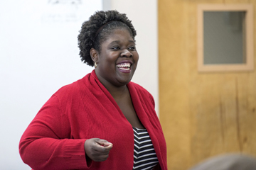
[(129, 31), (117, 28), (102, 42), (95, 72), (105, 86), (124, 86), (131, 81), (138, 60), (135, 42)]

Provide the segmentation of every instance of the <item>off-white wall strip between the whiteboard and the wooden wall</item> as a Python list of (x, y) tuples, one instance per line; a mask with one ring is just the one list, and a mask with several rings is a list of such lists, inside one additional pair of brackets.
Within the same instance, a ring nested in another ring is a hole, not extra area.
[(154, 96), (156, 113), (159, 113), (157, 0), (104, 0), (103, 9), (127, 13), (132, 20), (139, 52), (139, 64), (132, 81)]

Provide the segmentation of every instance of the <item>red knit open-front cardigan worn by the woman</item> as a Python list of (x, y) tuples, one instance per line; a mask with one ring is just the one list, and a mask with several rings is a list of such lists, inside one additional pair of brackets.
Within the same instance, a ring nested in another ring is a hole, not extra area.
[[(148, 91), (127, 84), (134, 109), (148, 130), (162, 170), (167, 169), (166, 142)], [(105, 162), (85, 159), (86, 139), (112, 142)], [(95, 71), (63, 86), (44, 104), (21, 137), (19, 152), (33, 169), (132, 170), (134, 132)]]

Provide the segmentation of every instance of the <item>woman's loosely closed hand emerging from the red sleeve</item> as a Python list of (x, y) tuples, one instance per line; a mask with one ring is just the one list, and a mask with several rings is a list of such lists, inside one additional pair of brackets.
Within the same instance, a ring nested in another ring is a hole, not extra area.
[(85, 154), (95, 162), (103, 162), (107, 160), (112, 147), (113, 144), (107, 140), (92, 138), (85, 141)]

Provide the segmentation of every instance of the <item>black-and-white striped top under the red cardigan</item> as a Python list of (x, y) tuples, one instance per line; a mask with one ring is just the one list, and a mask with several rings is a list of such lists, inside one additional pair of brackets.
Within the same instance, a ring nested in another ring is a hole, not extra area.
[(146, 129), (134, 130), (134, 170), (153, 169), (159, 163)]

